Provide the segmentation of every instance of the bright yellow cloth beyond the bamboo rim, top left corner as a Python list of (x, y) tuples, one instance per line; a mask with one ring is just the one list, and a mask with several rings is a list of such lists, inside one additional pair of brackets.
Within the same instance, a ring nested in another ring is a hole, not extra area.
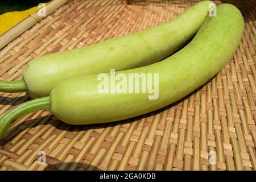
[(28, 15), (39, 10), (39, 7), (31, 7), (31, 9), (24, 11), (12, 11), (0, 15), (0, 35), (9, 30), (15, 24), (19, 23), (23, 19), (27, 18)]

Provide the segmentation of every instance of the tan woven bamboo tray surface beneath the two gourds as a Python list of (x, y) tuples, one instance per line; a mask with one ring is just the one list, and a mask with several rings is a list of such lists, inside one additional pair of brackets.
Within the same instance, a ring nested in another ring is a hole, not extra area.
[[(19, 79), (36, 56), (154, 27), (197, 1), (152, 2), (69, 1), (0, 51), (1, 79)], [(28, 114), (1, 141), (0, 169), (255, 170), (256, 9), (253, 1), (239, 2), (246, 5), (240, 47), (200, 89), (153, 113), (104, 125), (67, 125), (49, 111)], [(29, 99), (1, 93), (0, 115)], [(40, 151), (46, 164), (38, 164)]]

